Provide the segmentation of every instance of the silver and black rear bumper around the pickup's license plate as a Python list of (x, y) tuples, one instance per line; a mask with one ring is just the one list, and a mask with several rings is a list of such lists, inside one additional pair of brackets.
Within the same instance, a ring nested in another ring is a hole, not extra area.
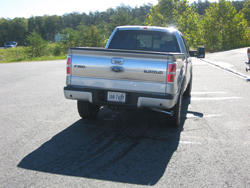
[(126, 93), (126, 100), (125, 102), (111, 102), (107, 100), (108, 91), (112, 90), (80, 88), (72, 86), (64, 87), (65, 98), (88, 101), (101, 106), (119, 106), (125, 108), (145, 107), (166, 110), (172, 108), (178, 98), (177, 95), (170, 94), (114, 91)]

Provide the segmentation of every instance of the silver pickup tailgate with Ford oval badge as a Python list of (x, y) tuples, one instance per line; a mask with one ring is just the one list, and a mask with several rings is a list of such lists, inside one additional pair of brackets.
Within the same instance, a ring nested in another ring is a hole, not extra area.
[(167, 53), (71, 48), (70, 85), (144, 92), (166, 92)]

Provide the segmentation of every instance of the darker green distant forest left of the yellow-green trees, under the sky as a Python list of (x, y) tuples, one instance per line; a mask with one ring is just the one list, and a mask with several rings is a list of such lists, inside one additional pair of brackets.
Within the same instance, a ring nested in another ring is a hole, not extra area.
[(108, 38), (117, 25), (140, 25), (145, 16), (150, 13), (152, 4), (136, 8), (120, 5), (116, 9), (109, 8), (105, 12), (78, 13), (73, 12), (63, 16), (36, 16), (15, 19), (0, 18), (0, 46), (6, 41), (17, 41), (18, 45), (27, 45), (27, 37), (38, 33), (45, 41), (55, 41), (55, 35), (66, 31), (77, 31), (97, 28), (98, 34)]

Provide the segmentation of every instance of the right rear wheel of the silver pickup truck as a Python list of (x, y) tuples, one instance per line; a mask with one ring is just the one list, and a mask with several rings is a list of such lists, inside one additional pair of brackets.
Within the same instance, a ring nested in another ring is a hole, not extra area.
[(173, 107), (173, 116), (168, 117), (167, 124), (170, 127), (177, 128), (181, 123), (181, 108), (182, 108), (182, 94), (179, 95), (178, 101)]

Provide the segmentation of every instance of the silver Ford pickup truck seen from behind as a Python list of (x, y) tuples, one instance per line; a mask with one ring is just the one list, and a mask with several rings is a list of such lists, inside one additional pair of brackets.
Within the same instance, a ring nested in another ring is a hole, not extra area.
[(77, 100), (82, 118), (94, 119), (102, 106), (149, 108), (167, 114), (178, 127), (183, 96), (190, 96), (192, 59), (205, 48), (189, 51), (176, 29), (120, 26), (105, 48), (71, 47), (67, 57), (64, 95)]

